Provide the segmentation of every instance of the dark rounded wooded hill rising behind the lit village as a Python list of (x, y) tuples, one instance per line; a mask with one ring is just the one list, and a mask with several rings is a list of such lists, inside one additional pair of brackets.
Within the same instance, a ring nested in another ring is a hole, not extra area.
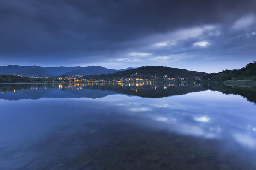
[(169, 78), (181, 77), (181, 78), (196, 78), (207, 75), (205, 72), (196, 72), (196, 71), (189, 71), (186, 69), (176, 69), (171, 67), (164, 67), (164, 66), (143, 66), (137, 69), (129, 69), (125, 71), (119, 71), (112, 74), (102, 74), (102, 75), (92, 75), (95, 79), (101, 78), (129, 78), (131, 75), (136, 74), (136, 76), (157, 76), (162, 77), (167, 75)]

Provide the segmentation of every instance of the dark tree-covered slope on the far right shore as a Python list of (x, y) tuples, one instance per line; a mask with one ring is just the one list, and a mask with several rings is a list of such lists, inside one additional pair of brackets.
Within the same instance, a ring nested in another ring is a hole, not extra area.
[(211, 82), (223, 82), (226, 80), (256, 80), (256, 61), (247, 64), (241, 69), (224, 70), (219, 73), (205, 75), (203, 79)]

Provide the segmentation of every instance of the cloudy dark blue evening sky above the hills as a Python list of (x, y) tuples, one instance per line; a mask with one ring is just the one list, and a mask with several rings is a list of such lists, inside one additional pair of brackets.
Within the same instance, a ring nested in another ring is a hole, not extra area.
[(256, 60), (256, 0), (1, 0), (0, 66), (169, 66)]

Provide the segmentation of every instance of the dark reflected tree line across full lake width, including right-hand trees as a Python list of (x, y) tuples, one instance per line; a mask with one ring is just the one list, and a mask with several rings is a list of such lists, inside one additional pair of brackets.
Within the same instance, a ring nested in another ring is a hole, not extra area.
[(184, 95), (205, 90), (220, 91), (224, 94), (241, 95), (256, 104), (256, 87), (225, 86), (224, 84), (171, 84), (171, 83), (74, 83), (74, 84), (0, 84), (0, 93), (20, 90), (59, 89), (65, 92), (74, 90), (101, 90), (134, 95), (144, 98), (162, 98)]

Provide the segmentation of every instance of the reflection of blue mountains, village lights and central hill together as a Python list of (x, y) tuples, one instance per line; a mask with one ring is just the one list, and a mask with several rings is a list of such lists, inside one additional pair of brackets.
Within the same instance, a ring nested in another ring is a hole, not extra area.
[(118, 93), (145, 98), (162, 98), (206, 90), (201, 84), (75, 83), (0, 84), (0, 99), (103, 98)]

